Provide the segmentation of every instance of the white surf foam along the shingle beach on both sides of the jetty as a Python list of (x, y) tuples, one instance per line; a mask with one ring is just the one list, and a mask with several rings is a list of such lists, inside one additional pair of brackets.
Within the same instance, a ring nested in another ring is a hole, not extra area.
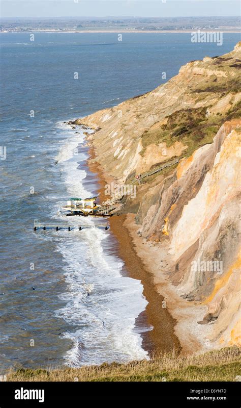
[[(76, 154), (76, 147), (84, 135), (74, 134), (63, 145), (57, 156), (62, 175), (70, 196), (87, 197), (92, 191), (83, 186), (86, 172), (77, 169), (85, 160)], [(75, 154), (74, 154), (75, 152)], [(71, 217), (74, 221), (77, 217)], [(124, 277), (120, 271), (124, 263), (110, 255), (105, 248), (111, 247), (111, 232), (95, 227), (95, 220), (78, 217), (81, 224), (92, 228), (72, 233), (62, 232), (57, 249), (65, 261), (67, 292), (61, 296), (65, 306), (57, 316), (73, 325), (73, 330), (63, 333), (72, 340), (67, 352), (66, 364), (79, 367), (83, 364), (147, 359), (141, 347), (140, 334), (135, 330), (135, 319), (145, 309), (140, 281)], [(77, 328), (76, 328), (77, 326)]]

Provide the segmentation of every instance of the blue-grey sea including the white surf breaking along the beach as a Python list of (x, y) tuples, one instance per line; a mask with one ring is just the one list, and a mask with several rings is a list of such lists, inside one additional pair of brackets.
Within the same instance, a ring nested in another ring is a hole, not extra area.
[[(152, 90), (162, 72), (168, 80), (190, 60), (229, 52), (238, 34), (224, 34), (223, 46), (177, 33), (0, 37), (1, 369), (148, 358), (141, 332), (151, 327), (135, 327), (143, 287), (111, 231), (61, 211), (70, 196), (97, 192), (83, 129), (63, 122)], [(91, 228), (34, 233), (34, 219)]]

